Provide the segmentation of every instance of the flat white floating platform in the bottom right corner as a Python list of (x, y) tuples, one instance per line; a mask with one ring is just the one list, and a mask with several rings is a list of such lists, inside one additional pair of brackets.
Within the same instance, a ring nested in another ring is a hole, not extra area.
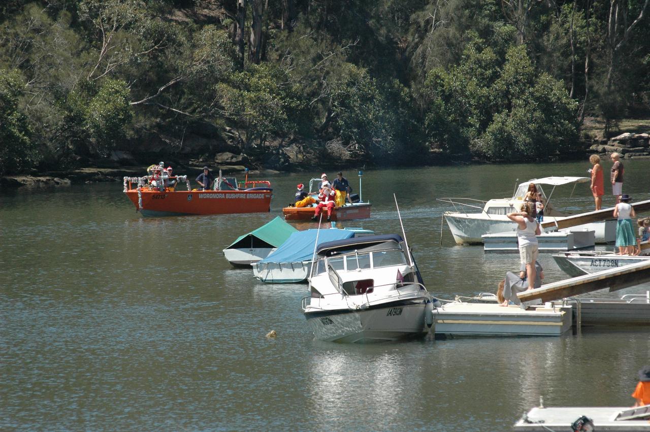
[(590, 422), (593, 431), (650, 431), (650, 405), (627, 407), (536, 407), (524, 414), (513, 430), (575, 431), (578, 424)]

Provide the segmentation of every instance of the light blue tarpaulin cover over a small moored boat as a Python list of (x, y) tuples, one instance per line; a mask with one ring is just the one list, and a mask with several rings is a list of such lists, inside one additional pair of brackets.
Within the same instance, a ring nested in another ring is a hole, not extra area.
[(314, 253), (314, 244), (318, 235), (318, 244), (352, 238), (354, 231), (347, 229), (307, 229), (293, 233), (287, 241), (282, 244), (271, 255), (259, 261), (257, 264), (265, 262), (302, 262), (311, 261)]

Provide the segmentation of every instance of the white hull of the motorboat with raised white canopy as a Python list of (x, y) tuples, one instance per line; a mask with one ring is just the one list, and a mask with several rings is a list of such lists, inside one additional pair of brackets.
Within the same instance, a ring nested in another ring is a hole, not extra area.
[[(445, 213), (445, 220), (456, 244), (482, 244), (481, 236), (484, 234), (509, 233), (517, 229), (516, 223), (500, 214), (492, 214), (488, 217), (477, 213), (448, 212)], [(594, 231), (596, 243), (609, 243), (616, 240), (616, 221), (587, 223), (567, 229), (567, 231), (584, 230)]]

